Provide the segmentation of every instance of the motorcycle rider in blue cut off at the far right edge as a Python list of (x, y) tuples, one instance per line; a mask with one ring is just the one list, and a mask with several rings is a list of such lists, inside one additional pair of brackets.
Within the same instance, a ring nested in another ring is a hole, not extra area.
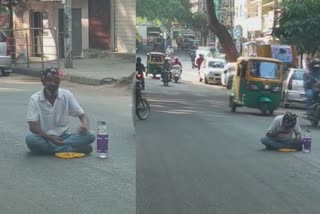
[(304, 90), (307, 96), (307, 115), (310, 115), (312, 109), (310, 108), (316, 101), (319, 90), (318, 85), (320, 81), (320, 59), (315, 58), (309, 63), (309, 72), (304, 74)]

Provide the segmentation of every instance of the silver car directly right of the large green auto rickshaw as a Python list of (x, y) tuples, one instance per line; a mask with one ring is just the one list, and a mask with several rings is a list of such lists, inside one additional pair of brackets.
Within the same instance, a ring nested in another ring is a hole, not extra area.
[(286, 72), (282, 86), (282, 101), (286, 108), (291, 104), (303, 104), (306, 102), (306, 95), (303, 88), (304, 69), (290, 68)]

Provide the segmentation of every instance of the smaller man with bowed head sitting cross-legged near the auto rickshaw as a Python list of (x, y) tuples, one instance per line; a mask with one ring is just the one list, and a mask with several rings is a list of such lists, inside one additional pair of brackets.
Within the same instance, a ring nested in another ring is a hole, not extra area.
[[(292, 138), (292, 134), (295, 138)], [(296, 149), (302, 150), (301, 128), (296, 114), (286, 112), (274, 118), (268, 128), (266, 137), (261, 139), (266, 149)]]

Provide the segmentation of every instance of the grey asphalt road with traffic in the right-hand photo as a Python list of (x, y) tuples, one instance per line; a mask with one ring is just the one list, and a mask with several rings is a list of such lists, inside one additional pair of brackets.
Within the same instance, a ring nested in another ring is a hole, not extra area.
[(231, 113), (229, 91), (196, 83), (182, 60), (181, 83), (146, 80), (152, 111), (136, 126), (137, 213), (319, 214), (320, 128), (301, 120), (312, 132), (310, 154), (267, 151), (260, 138), (273, 116)]

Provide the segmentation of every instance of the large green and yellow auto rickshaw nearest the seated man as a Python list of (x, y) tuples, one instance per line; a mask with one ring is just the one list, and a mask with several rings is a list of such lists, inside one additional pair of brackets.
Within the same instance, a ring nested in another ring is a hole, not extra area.
[(240, 57), (230, 95), (229, 107), (257, 108), (273, 114), (281, 102), (282, 63), (273, 58)]

